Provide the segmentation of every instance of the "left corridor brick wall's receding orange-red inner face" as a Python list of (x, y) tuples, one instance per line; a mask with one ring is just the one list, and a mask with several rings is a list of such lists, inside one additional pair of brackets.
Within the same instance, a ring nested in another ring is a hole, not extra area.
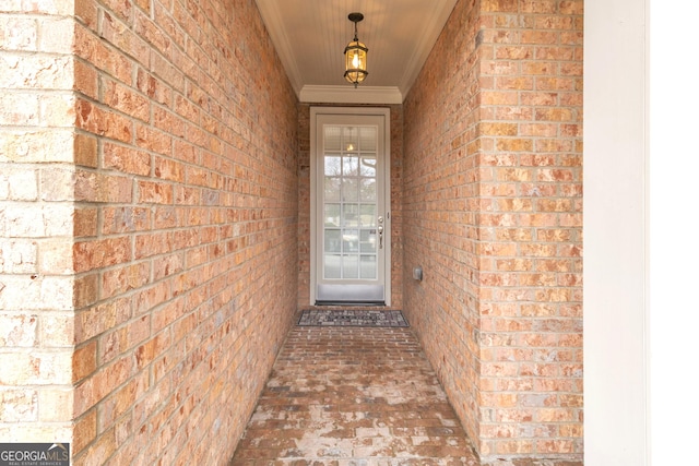
[(296, 97), (252, 2), (86, 10), (76, 464), (223, 464), (296, 310)]

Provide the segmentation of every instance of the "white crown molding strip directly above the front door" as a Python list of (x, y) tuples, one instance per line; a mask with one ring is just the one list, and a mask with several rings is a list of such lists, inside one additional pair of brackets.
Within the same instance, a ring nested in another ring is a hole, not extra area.
[(306, 104), (402, 104), (403, 94), (394, 86), (306, 85), (298, 99)]

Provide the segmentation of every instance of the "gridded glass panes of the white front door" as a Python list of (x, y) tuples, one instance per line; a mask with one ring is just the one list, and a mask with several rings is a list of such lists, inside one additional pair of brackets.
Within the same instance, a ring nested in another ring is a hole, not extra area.
[(324, 279), (378, 277), (376, 127), (323, 126)]

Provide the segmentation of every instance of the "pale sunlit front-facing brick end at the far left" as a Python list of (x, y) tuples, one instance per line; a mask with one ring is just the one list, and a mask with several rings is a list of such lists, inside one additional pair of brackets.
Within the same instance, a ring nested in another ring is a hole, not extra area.
[(0, 12), (0, 442), (70, 442), (70, 2)]

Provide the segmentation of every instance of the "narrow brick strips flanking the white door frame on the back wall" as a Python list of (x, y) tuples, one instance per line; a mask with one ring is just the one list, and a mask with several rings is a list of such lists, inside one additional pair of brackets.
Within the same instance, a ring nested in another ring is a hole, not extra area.
[[(298, 106), (298, 307), (313, 304), (310, 298), (310, 107)], [(321, 106), (321, 104), (319, 104)], [(339, 107), (343, 105), (339, 104)], [(346, 105), (344, 105), (346, 106)], [(403, 303), (402, 160), (403, 106), (391, 110), (391, 308)]]

